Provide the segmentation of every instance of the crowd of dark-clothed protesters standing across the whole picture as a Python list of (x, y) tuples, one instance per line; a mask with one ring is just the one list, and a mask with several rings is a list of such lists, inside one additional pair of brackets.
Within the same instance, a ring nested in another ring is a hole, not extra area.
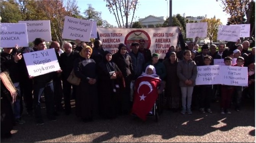
[[(220, 97), (220, 113), (231, 114), (242, 110), (242, 96), (255, 100), (255, 47), (248, 50), (249, 42), (240, 40), (226, 47), (204, 44), (201, 52), (195, 42), (186, 44), (179, 32), (180, 47), (171, 46), (164, 59), (145, 48), (145, 40), (133, 42), (131, 51), (120, 43), (118, 52), (112, 54), (103, 50), (102, 42), (66, 42), (63, 50), (60, 43), (53, 41), (61, 69), (40, 76), (29, 76), (24, 53), (46, 50), (45, 40), (36, 38), (34, 47), (3, 48), (1, 53), (1, 137), (10, 137), (13, 123), (25, 124), (21, 118), (23, 103), (27, 114), (34, 116), (37, 125), (44, 124), (41, 103), (45, 103), (47, 118), (57, 121), (59, 112), (69, 116), (71, 99), (75, 100), (75, 115), (83, 122), (91, 122), (102, 117), (114, 119), (130, 114), (133, 100), (130, 84), (146, 67), (154, 66), (156, 74), (166, 82), (164, 89), (165, 109), (181, 114), (212, 113), (211, 101)], [(197, 66), (213, 65), (214, 59), (223, 59), (231, 65), (232, 58), (237, 64), (248, 67), (248, 86), (195, 85)], [(71, 73), (81, 79), (79, 85), (70, 84), (67, 79)], [(210, 94), (212, 93), (212, 94)], [(44, 99), (42, 98), (44, 96)], [(64, 106), (62, 103), (64, 98)], [(233, 103), (233, 104), (232, 104)]]

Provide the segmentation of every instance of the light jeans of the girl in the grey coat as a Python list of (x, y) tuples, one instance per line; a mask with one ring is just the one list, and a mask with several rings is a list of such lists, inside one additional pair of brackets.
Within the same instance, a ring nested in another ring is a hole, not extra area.
[(180, 87), (181, 95), (182, 95), (181, 96), (182, 109), (191, 108), (193, 88), (194, 87)]

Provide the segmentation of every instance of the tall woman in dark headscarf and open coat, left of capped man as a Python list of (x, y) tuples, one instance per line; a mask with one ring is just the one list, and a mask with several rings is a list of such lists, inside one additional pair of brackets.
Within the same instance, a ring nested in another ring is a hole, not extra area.
[(113, 55), (113, 62), (116, 63), (122, 75), (124, 76), (126, 87), (121, 87), (122, 91), (122, 113), (130, 113), (132, 107), (132, 101), (130, 99), (130, 82), (134, 76), (134, 71), (132, 69), (132, 58), (126, 51), (126, 45), (121, 43), (118, 46), (118, 52)]

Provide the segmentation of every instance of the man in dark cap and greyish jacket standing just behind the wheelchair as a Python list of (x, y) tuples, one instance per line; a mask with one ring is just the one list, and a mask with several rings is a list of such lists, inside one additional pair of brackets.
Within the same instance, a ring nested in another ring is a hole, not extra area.
[(143, 65), (145, 64), (145, 59), (142, 53), (138, 52), (139, 43), (133, 42), (131, 45), (132, 51), (129, 53), (132, 58), (132, 68), (134, 70), (134, 79), (137, 79), (142, 74)]

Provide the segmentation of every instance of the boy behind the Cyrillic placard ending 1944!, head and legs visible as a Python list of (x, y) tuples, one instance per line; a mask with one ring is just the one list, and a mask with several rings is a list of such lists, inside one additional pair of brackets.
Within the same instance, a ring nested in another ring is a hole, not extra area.
[[(204, 66), (209, 66), (211, 64), (212, 57), (209, 55), (204, 56)], [(211, 103), (211, 94), (213, 92), (213, 85), (201, 85), (200, 86), (201, 94), (200, 94), (200, 112), (205, 113), (205, 109), (207, 112), (212, 113), (210, 108)]]

